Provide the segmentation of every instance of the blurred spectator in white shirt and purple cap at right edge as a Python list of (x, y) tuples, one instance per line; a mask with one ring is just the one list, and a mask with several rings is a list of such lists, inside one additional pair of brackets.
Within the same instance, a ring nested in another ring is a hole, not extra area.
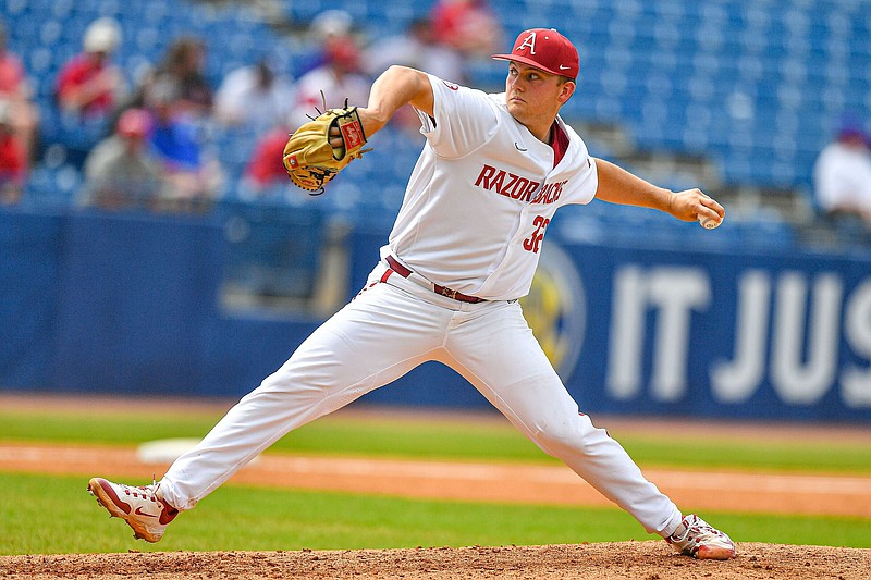
[(861, 219), (871, 225), (871, 148), (861, 125), (845, 120), (813, 166), (817, 202), (830, 218)]

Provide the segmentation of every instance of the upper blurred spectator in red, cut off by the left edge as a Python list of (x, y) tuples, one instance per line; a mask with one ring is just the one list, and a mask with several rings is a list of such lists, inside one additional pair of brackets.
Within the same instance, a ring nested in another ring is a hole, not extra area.
[(7, 49), (7, 30), (0, 23), (0, 98), (11, 106), (12, 128), (29, 163), (36, 149), (39, 114), (33, 102), (30, 87), (27, 85), (24, 66), (17, 54)]

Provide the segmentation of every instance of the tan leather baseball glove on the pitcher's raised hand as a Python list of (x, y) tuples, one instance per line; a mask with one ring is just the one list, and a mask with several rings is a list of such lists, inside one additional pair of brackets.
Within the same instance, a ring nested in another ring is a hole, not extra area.
[(284, 169), (297, 187), (320, 195), (348, 163), (371, 151), (363, 149), (364, 145), (366, 135), (357, 108), (345, 102), (343, 109), (328, 109), (291, 134), (284, 146)]

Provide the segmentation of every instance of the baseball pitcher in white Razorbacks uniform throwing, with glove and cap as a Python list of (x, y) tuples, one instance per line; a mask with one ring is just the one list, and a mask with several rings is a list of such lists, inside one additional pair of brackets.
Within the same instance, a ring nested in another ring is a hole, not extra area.
[(438, 360), (649, 533), (698, 558), (735, 555), (726, 534), (685, 516), (604, 429), (579, 412), (518, 303), (529, 291), (548, 226), (566, 203), (599, 198), (713, 224), (722, 222), (724, 209), (699, 189), (663, 189), (589, 155), (559, 116), (579, 72), (576, 48), (559, 32), (525, 30), (510, 53), (493, 58), (507, 63), (502, 94), (393, 66), (373, 83), (367, 107), (328, 111), (291, 136), (285, 166), (294, 183), (310, 190), (323, 190), (406, 103), (420, 118), (426, 144), (380, 260), (355, 299), (159, 482), (137, 488), (90, 480), (98, 502), (137, 538), (160, 540), (180, 510), (193, 508), (289, 431)]

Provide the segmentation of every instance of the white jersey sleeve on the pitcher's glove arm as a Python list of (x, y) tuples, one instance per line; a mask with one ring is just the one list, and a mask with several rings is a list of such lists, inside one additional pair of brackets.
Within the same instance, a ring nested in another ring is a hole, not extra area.
[(499, 115), (490, 97), (429, 75), (433, 118), (418, 111), (420, 132), (437, 155), (462, 158), (487, 145), (495, 135)]

